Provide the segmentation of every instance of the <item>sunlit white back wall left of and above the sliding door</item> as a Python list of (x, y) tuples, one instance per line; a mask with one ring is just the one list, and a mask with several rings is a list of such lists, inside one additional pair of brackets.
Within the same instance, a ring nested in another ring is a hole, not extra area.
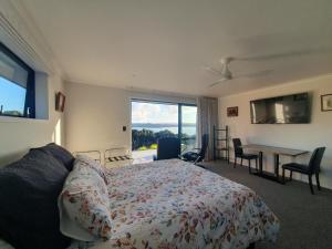
[[(66, 147), (72, 152), (131, 148), (131, 100), (196, 103), (195, 97), (65, 83)], [(126, 126), (126, 132), (122, 127)]]

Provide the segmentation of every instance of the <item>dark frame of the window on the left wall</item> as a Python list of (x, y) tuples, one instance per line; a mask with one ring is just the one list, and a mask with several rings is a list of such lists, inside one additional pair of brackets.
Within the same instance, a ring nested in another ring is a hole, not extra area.
[[(23, 117), (23, 118), (35, 118), (35, 72), (32, 70), (25, 62), (23, 62), (17, 54), (14, 54), (10, 49), (8, 49), (3, 43), (0, 42), (0, 51), (3, 52), (7, 56), (18, 63), (21, 68), (23, 68), (28, 72), (27, 80), (27, 92), (25, 92), (25, 102), (23, 115), (10, 115), (2, 114), (0, 116), (10, 116), (10, 117)], [(29, 108), (29, 115), (28, 115)]]

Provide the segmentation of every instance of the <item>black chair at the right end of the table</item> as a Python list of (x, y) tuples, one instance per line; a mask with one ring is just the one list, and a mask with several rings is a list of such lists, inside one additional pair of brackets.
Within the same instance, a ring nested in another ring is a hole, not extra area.
[(319, 190), (321, 190), (320, 167), (321, 167), (321, 162), (322, 162), (324, 152), (325, 152), (325, 147), (319, 147), (319, 148), (314, 149), (314, 152), (312, 153), (312, 156), (310, 158), (309, 165), (297, 164), (297, 163), (290, 163), (290, 164), (282, 165), (282, 180), (283, 180), (283, 183), (286, 183), (286, 180), (284, 180), (284, 170), (286, 169), (290, 170), (290, 180), (292, 180), (293, 172), (308, 175), (310, 190), (311, 190), (311, 194), (314, 195), (313, 186), (312, 186), (312, 175), (314, 174), (315, 175), (317, 187), (318, 187)]

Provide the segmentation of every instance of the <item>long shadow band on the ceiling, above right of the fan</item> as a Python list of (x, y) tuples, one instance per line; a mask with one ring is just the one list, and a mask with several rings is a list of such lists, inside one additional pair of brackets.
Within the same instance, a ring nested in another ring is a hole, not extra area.
[(271, 53), (271, 54), (258, 55), (258, 56), (234, 58), (234, 60), (236, 60), (236, 61), (267, 61), (267, 60), (277, 60), (277, 59), (283, 59), (283, 58), (319, 54), (319, 53), (324, 53), (324, 52), (328, 52), (328, 50), (326, 49), (309, 49), (309, 50), (289, 51), (289, 52), (283, 52), (283, 53)]

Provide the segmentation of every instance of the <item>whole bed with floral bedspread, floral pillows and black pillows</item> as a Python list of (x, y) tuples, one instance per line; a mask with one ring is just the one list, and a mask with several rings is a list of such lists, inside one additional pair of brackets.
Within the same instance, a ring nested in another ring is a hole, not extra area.
[(190, 163), (105, 168), (55, 144), (0, 169), (0, 200), (1, 248), (11, 248), (3, 239), (22, 249), (245, 249), (279, 231), (255, 191)]

